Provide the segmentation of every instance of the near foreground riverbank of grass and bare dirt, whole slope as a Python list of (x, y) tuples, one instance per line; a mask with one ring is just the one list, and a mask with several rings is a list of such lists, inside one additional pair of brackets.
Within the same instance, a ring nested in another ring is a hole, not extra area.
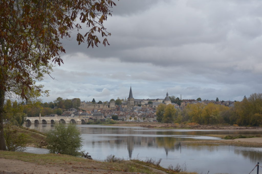
[[(103, 162), (61, 154), (33, 154), (26, 152), (0, 151), (0, 174), (20, 173), (177, 173), (161, 166), (138, 160), (122, 160), (120, 162)], [(180, 172), (181, 174), (197, 174)]]

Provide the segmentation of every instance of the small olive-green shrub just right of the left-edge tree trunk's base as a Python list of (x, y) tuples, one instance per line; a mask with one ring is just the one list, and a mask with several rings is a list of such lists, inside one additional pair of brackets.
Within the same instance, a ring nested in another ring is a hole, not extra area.
[(4, 138), (8, 151), (23, 152), (28, 142), (28, 135), (18, 133), (17, 129), (13, 129), (10, 124), (5, 125)]

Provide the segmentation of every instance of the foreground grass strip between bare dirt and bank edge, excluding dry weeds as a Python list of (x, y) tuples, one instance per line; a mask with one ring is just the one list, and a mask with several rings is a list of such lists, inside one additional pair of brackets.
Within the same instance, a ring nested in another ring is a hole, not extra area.
[(9, 151), (0, 151), (0, 156), (1, 158), (32, 162), (38, 165), (64, 167), (68, 170), (73, 168), (74, 171), (77, 169), (79, 173), (84, 172), (83, 168), (93, 168), (96, 170), (156, 174), (149, 167), (125, 160), (120, 162), (102, 162), (62, 154), (33, 154)]

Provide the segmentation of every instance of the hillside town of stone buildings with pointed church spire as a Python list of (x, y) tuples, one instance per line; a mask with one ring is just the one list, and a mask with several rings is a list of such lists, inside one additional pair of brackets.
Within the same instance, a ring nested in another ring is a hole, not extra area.
[[(174, 96), (172, 96), (174, 99)], [(214, 103), (217, 105), (224, 105), (232, 107), (234, 101), (219, 101), (217, 100), (201, 100), (198, 98), (182, 100), (182, 97), (177, 98), (176, 103), (171, 101), (171, 97), (166, 93), (165, 98), (163, 99), (134, 99), (132, 88), (130, 86), (129, 95), (127, 101), (121, 101), (121, 103), (116, 103), (114, 99), (106, 102), (80, 102), (79, 109), (70, 108), (63, 111), (59, 116), (63, 117), (78, 117), (86, 118), (92, 120), (105, 120), (105, 119), (114, 119), (121, 121), (140, 121), (140, 122), (156, 122), (156, 108), (160, 104), (171, 104), (177, 110), (183, 110), (188, 104), (209, 104)], [(119, 99), (118, 99), (119, 100)], [(177, 104), (178, 103), (178, 104)], [(54, 117), (58, 114), (44, 115), (45, 117)]]

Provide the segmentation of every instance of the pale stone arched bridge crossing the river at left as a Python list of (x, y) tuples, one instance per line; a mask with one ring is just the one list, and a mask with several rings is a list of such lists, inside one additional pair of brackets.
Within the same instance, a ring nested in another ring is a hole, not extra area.
[(26, 117), (25, 123), (27, 124), (54, 124), (54, 123), (74, 123), (74, 124), (85, 124), (88, 122), (88, 118), (78, 117)]

